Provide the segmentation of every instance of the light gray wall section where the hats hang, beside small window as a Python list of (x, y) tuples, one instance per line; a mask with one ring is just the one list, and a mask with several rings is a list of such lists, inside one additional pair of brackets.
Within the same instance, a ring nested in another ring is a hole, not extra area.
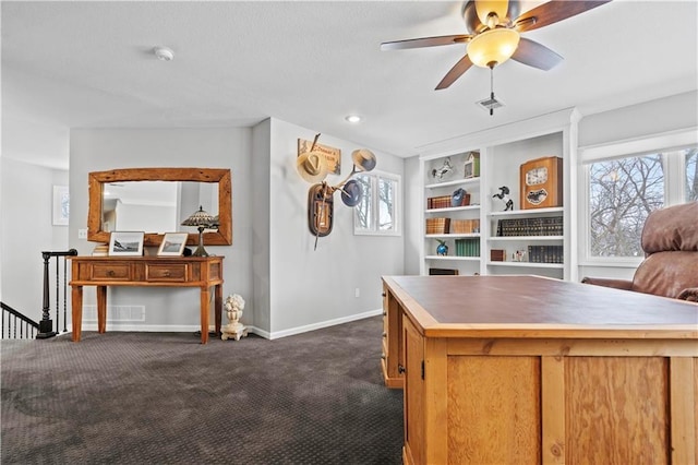
[[(308, 227), (308, 190), (296, 171), (297, 141), (313, 140), (315, 132), (277, 119), (270, 127), (269, 165), (269, 308), (273, 336), (298, 329), (348, 321), (382, 308), (382, 275), (402, 274), (404, 236), (354, 236), (352, 210), (335, 195), (332, 233), (317, 241)], [(351, 153), (369, 148), (376, 170), (402, 176), (404, 162), (359, 143), (321, 135), (320, 143), (341, 150), (341, 175), (352, 168)], [(356, 289), (360, 297), (354, 297)]]

